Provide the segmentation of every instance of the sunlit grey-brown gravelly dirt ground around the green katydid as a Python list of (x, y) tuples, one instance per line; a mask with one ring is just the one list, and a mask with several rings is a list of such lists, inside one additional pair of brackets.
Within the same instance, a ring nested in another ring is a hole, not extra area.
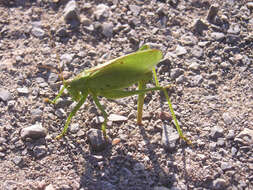
[[(243, 0), (1, 0), (0, 189), (253, 189), (252, 12)], [(75, 105), (67, 93), (45, 103), (58, 74), (145, 43), (163, 51), (158, 78), (175, 84), (169, 94), (192, 145), (179, 140), (160, 92), (146, 96), (143, 126), (136, 96), (100, 98), (116, 114), (103, 151), (88, 142), (103, 119), (92, 98), (56, 141)]]

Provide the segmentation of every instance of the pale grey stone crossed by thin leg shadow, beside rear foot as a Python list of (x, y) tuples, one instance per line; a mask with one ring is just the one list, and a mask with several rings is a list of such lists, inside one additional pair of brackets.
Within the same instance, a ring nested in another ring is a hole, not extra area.
[(179, 135), (177, 131), (168, 125), (163, 125), (162, 132), (162, 145), (165, 150), (173, 151), (176, 148), (176, 144), (179, 140)]

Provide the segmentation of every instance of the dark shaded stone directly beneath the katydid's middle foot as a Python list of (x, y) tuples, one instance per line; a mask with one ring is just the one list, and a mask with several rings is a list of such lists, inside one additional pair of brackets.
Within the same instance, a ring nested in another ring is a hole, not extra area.
[(91, 149), (95, 152), (103, 151), (106, 148), (107, 140), (101, 130), (90, 129), (87, 132), (88, 141), (90, 143)]

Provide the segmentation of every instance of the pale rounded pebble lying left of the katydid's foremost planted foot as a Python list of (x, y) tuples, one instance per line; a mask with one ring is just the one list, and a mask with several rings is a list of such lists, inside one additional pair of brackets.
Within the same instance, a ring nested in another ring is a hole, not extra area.
[(46, 135), (47, 130), (44, 127), (42, 127), (41, 123), (37, 123), (30, 127), (23, 128), (20, 132), (20, 136), (22, 139), (25, 139), (27, 137), (32, 139), (39, 139), (45, 137)]

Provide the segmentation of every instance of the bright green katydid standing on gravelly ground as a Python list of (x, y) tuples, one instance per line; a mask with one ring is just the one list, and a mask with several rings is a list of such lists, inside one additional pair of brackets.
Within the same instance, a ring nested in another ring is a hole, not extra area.
[[(102, 124), (102, 132), (106, 137), (108, 114), (100, 104), (98, 96), (108, 99), (117, 99), (138, 95), (137, 124), (141, 125), (145, 94), (150, 91), (162, 90), (169, 104), (172, 118), (179, 136), (187, 143), (190, 143), (190, 141), (183, 135), (177, 122), (172, 104), (166, 91), (166, 88), (168, 87), (161, 87), (157, 80), (155, 66), (162, 57), (163, 54), (160, 50), (151, 49), (148, 45), (144, 45), (137, 52), (121, 56), (91, 69), (84, 70), (74, 78), (63, 81), (64, 87), (59, 91), (53, 101), (48, 101), (54, 104), (62, 95), (64, 89), (67, 89), (72, 99), (78, 103), (70, 112), (63, 131), (56, 137), (56, 139), (60, 139), (66, 134), (71, 118), (83, 105), (88, 95), (92, 96), (96, 106), (103, 114), (104, 122)], [(151, 81), (153, 77), (156, 86), (153, 88), (146, 88), (146, 84)], [(138, 90), (124, 90), (124, 88), (136, 83), (138, 83)]]

